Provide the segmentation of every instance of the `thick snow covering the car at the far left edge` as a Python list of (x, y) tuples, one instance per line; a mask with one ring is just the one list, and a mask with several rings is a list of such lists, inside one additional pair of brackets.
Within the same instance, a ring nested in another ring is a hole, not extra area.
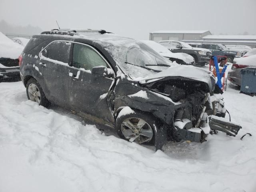
[(0, 32), (0, 58), (18, 59), (23, 48), (24, 47), (22, 45), (14, 43)]

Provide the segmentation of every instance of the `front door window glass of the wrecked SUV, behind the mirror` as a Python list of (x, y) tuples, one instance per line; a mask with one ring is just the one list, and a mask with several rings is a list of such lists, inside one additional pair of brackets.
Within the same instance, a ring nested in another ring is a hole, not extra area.
[(92, 48), (74, 43), (72, 66), (91, 70), (96, 66), (108, 67), (104, 59)]

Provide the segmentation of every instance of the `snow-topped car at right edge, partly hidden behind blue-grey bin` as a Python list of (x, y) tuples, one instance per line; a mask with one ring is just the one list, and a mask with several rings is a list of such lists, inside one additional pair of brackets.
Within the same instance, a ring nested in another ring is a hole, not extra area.
[(251, 56), (241, 57), (241, 58), (235, 58), (232, 68), (228, 72), (228, 80), (233, 84), (241, 86), (242, 68), (252, 67), (252, 66), (254, 67), (256, 66), (256, 54)]

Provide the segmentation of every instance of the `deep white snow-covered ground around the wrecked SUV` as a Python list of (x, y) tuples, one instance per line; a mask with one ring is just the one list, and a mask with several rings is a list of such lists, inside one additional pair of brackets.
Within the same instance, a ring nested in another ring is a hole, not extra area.
[(224, 98), (243, 127), (235, 138), (154, 152), (38, 106), (22, 82), (0, 83), (0, 192), (255, 192), (256, 97), (228, 88)]

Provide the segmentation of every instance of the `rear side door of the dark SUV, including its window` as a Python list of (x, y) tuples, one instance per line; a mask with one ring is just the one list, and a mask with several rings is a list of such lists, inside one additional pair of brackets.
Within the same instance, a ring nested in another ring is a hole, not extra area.
[(69, 56), (71, 43), (51, 42), (40, 52), (40, 72), (52, 102), (69, 106)]

